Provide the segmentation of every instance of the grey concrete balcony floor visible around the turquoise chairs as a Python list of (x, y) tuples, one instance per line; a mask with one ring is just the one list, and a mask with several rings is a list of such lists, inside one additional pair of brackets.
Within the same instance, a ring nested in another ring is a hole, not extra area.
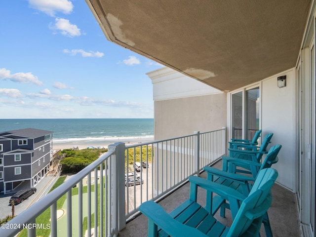
[[(215, 167), (221, 167), (218, 162)], [(202, 173), (201, 177), (205, 177), (206, 173)], [(272, 233), (274, 237), (300, 237), (300, 223), (298, 218), (297, 198), (296, 195), (282, 186), (275, 184), (272, 188), (272, 205), (268, 210)], [(180, 189), (173, 192), (168, 197), (158, 203), (166, 210), (172, 211), (189, 197), (189, 183), (182, 186)], [(203, 198), (204, 197), (204, 198)], [(205, 193), (202, 190), (198, 191), (199, 203), (205, 203)], [(219, 214), (215, 215), (216, 219), (220, 220), (225, 225), (230, 225), (229, 210), (227, 217), (222, 218)], [(126, 228), (119, 232), (120, 237), (146, 237), (147, 236), (147, 218), (144, 215), (139, 215), (132, 221), (126, 224)], [(265, 237), (263, 227), (261, 228), (261, 237)]]

